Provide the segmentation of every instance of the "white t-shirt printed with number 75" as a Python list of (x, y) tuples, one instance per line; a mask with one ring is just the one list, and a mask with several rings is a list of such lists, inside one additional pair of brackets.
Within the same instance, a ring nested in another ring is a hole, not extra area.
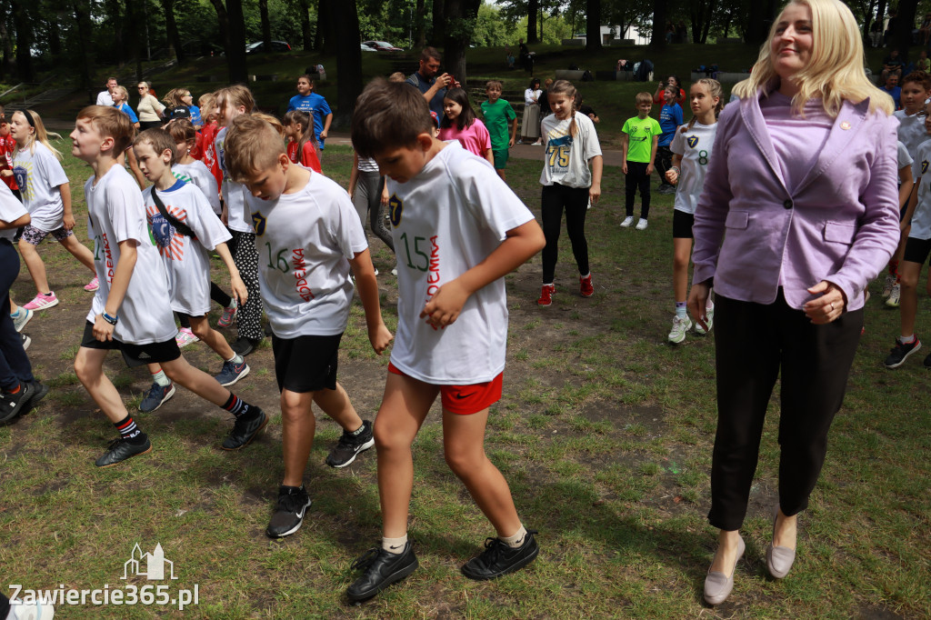
[(578, 112), (574, 115), (577, 128), (574, 136), (569, 132), (571, 118), (560, 120), (556, 115), (549, 115), (543, 119), (545, 158), (543, 173), (540, 174), (540, 183), (543, 185), (560, 183), (567, 187), (591, 186), (588, 160), (601, 155), (598, 132), (586, 115)]

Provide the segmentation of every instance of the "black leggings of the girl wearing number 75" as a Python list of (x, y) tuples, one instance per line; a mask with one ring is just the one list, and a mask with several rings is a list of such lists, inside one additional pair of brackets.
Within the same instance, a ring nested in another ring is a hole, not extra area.
[(588, 274), (588, 242), (585, 238), (585, 216), (588, 209), (588, 188), (567, 187), (559, 183), (543, 186), (541, 210), (543, 212), (543, 283), (552, 284), (556, 275), (556, 259), (559, 254), (562, 209), (566, 210), (566, 232), (573, 244), (575, 264), (579, 275)]

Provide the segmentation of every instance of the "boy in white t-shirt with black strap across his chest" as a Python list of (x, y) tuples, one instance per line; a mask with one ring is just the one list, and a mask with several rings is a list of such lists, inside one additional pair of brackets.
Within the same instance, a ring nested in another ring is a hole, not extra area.
[[(175, 143), (164, 129), (146, 129), (132, 143), (142, 174), (154, 185), (142, 192), (146, 219), (158, 253), (169, 276), (171, 309), (187, 319), (196, 337), (223, 359), (223, 369), (214, 378), (223, 386), (235, 384), (249, 374), (246, 360), (230, 348), (223, 335), (210, 328), (210, 255), (216, 250), (230, 273), (233, 294), (247, 297), (226, 242), (231, 235), (212, 212), (207, 197), (193, 183), (176, 179), (171, 168)], [(156, 202), (157, 198), (157, 202)], [(160, 203), (160, 206), (159, 206)], [(165, 213), (162, 213), (164, 209)], [(149, 364), (153, 385), (152, 403), (161, 405), (174, 393), (165, 373), (157, 364)], [(141, 407), (141, 411), (155, 411)]]

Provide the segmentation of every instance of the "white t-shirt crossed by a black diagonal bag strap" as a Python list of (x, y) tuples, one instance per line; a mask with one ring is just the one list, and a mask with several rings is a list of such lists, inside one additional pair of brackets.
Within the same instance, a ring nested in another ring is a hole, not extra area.
[(158, 190), (146, 187), (142, 201), (155, 246), (169, 276), (171, 309), (203, 317), (210, 309), (209, 250), (229, 241), (232, 235), (210, 209), (207, 197), (193, 183), (179, 180), (169, 190), (158, 191), (158, 197), (172, 217), (194, 231), (196, 239), (177, 232), (162, 216), (152, 198), (153, 191)]

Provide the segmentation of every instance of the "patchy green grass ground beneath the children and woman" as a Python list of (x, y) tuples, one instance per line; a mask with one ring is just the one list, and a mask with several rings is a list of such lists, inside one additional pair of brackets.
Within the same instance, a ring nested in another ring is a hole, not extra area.
[[(328, 147), (324, 169), (345, 185), (347, 148)], [(84, 215), (88, 168), (66, 158), (75, 212)], [(538, 209), (539, 164), (513, 159), (508, 179)], [(270, 347), (250, 356), (236, 391), (271, 416), (243, 452), (218, 444), (231, 422), (179, 389), (162, 409), (137, 415), (154, 450), (98, 470), (113, 438), (72, 369), (89, 295), (83, 267), (58, 244), (40, 248), (50, 279), (72, 301), (35, 317), (29, 353), (51, 386), (37, 411), (0, 426), (0, 565), (7, 584), (125, 587), (123, 562), (135, 543), (160, 543), (200, 602), (168, 608), (60, 608), (69, 618), (688, 618), (711, 613), (701, 587), (715, 546), (705, 515), (713, 444), (714, 333), (666, 344), (671, 308), (671, 199), (654, 196), (646, 231), (621, 229), (623, 192), (606, 168), (602, 201), (588, 214), (596, 293), (582, 299), (568, 240), (560, 245), (558, 293), (541, 309), (540, 259), (507, 278), (510, 331), (504, 398), (492, 408), (487, 452), (505, 473), (521, 518), (540, 531), (542, 551), (526, 571), (473, 583), (459, 566), (493, 532), (444, 463), (439, 408), (414, 444), (411, 529), (421, 569), (359, 607), (343, 598), (349, 565), (380, 535), (373, 452), (344, 470), (323, 460), (339, 430), (317, 415), (305, 484), (314, 498), (300, 532), (283, 541), (263, 530), (283, 474), (281, 421)], [(77, 229), (86, 241), (86, 233)], [(393, 257), (373, 237), (385, 318), (397, 324)], [(225, 276), (216, 264), (214, 277)], [(34, 288), (23, 272), (13, 287)], [(920, 360), (885, 371), (881, 360), (897, 313), (867, 312), (847, 397), (811, 505), (801, 517), (799, 559), (782, 582), (765, 578), (763, 553), (777, 501), (779, 407), (770, 408), (743, 534), (748, 551), (722, 617), (927, 617), (931, 546), (927, 480), (931, 439), (927, 377)], [(923, 298), (919, 328), (927, 325)], [(215, 320), (216, 317), (213, 317)], [(227, 330), (227, 335), (234, 332)], [(196, 366), (219, 361), (203, 344), (184, 349)], [(340, 380), (363, 416), (382, 398), (385, 357), (371, 351), (358, 303), (342, 344)], [(111, 355), (106, 370), (135, 408), (151, 384)], [(776, 388), (776, 392), (777, 392)], [(137, 586), (144, 579), (131, 581)], [(160, 582), (159, 582), (160, 583)]]

